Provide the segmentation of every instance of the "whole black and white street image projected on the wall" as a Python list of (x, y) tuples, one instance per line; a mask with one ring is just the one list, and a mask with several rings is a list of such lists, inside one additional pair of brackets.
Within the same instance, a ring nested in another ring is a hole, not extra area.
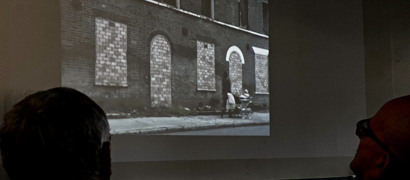
[(112, 134), (269, 135), (267, 0), (61, 0), (62, 85)]

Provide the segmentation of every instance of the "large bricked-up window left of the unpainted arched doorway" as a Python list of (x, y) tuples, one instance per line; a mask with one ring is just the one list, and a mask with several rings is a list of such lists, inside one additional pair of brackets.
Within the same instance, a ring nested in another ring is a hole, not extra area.
[(95, 18), (95, 85), (127, 86), (127, 25)]

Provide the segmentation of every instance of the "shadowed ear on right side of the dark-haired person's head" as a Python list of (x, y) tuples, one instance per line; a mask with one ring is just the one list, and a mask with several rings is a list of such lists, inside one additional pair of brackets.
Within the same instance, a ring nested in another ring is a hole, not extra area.
[(99, 179), (108, 180), (112, 174), (111, 171), (111, 143), (106, 141), (101, 146)]

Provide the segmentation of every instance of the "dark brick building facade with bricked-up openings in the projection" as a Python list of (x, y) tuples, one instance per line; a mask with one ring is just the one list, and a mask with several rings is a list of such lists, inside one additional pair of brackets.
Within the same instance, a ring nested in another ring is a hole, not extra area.
[(268, 105), (267, 0), (60, 3), (62, 85), (106, 110), (208, 104), (224, 71), (234, 92)]

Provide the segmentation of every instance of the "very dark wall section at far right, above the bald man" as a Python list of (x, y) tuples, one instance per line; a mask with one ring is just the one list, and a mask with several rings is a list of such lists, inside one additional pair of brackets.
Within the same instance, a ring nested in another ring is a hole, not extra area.
[(410, 94), (410, 2), (363, 0), (367, 115)]

